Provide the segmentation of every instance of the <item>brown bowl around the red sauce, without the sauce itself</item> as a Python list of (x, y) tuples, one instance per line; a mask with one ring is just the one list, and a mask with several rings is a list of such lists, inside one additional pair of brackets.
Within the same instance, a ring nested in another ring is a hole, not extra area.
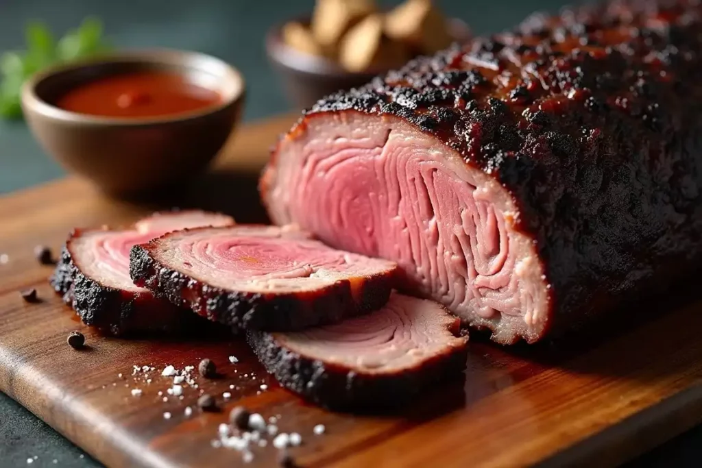
[[(217, 91), (216, 105), (156, 117), (69, 112), (55, 102), (97, 79), (166, 72)], [(41, 147), (63, 167), (114, 196), (143, 196), (185, 184), (218, 154), (241, 116), (245, 83), (218, 58), (154, 50), (103, 56), (49, 69), (22, 88), (22, 109)]]

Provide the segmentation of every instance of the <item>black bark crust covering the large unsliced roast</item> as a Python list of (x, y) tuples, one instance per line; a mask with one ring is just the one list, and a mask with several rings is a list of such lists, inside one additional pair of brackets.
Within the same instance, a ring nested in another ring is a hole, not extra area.
[(548, 328), (575, 328), (702, 258), (701, 27), (687, 1), (534, 15), (320, 100), (288, 138), (329, 112), (437, 138), (512, 194), (550, 285)]

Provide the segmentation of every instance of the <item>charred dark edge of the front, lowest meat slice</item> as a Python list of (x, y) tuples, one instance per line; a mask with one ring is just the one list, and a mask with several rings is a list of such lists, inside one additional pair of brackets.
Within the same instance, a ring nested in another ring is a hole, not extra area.
[(460, 375), (468, 359), (468, 338), (465, 337), (463, 346), (449, 347), (410, 370), (356, 373), (286, 349), (273, 333), (249, 330), (246, 340), (280, 385), (319, 406), (341, 411), (402, 406), (437, 382)]

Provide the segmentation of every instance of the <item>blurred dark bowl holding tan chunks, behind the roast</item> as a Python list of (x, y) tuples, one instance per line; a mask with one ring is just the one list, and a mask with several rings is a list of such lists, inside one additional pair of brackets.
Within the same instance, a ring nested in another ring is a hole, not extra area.
[[(310, 18), (300, 20), (306, 27)], [(463, 43), (471, 37), (470, 28), (458, 18), (447, 20), (449, 34), (454, 41)], [(274, 69), (279, 72), (289, 102), (298, 108), (312, 107), (325, 95), (362, 86), (374, 76), (390, 71), (392, 67), (350, 72), (329, 58), (298, 51), (286, 44), (282, 36), (284, 24), (270, 29), (266, 36), (266, 53)]]

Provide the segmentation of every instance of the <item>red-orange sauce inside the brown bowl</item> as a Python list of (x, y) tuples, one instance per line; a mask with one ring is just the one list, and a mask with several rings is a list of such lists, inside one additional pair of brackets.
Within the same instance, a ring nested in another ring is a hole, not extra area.
[(138, 119), (187, 114), (220, 102), (219, 93), (183, 75), (135, 72), (89, 81), (62, 95), (55, 104), (78, 114)]

